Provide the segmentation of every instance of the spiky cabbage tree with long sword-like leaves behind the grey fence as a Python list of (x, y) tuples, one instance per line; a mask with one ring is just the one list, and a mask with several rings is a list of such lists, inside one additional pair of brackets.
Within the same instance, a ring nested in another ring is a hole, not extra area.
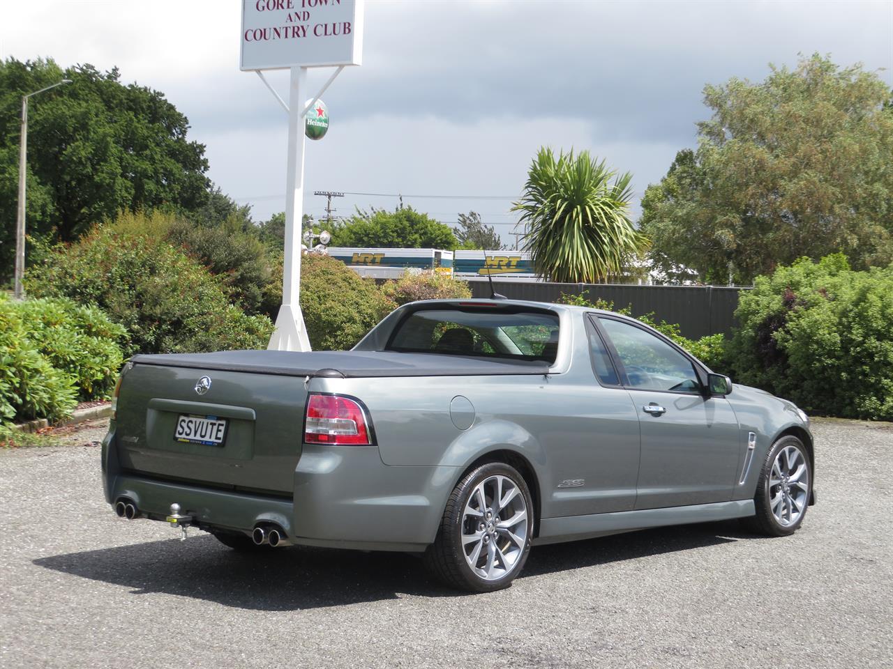
[(596, 283), (619, 273), (646, 244), (629, 218), (630, 180), (597, 162), (588, 151), (577, 155), (541, 148), (519, 202), (527, 229), (524, 251), (533, 254), (539, 274), (553, 281)]

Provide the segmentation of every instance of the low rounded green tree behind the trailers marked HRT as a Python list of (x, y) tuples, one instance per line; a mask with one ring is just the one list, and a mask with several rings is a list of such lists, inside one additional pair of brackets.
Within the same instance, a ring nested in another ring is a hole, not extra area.
[(344, 226), (332, 230), (332, 246), (455, 249), (451, 227), (412, 207), (395, 211), (357, 211)]

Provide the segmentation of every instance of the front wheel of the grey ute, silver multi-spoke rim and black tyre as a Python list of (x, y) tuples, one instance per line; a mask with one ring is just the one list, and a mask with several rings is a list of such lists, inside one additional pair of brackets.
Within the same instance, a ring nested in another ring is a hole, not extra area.
[(756, 515), (744, 518), (748, 530), (772, 537), (797, 532), (809, 507), (813, 467), (803, 442), (781, 437), (766, 454), (756, 484)]

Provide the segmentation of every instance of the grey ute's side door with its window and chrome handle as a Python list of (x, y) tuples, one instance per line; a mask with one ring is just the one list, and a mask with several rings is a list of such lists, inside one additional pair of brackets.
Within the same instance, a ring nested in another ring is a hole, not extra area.
[(739, 425), (729, 401), (703, 392), (692, 359), (645, 326), (608, 316), (597, 322), (638, 410), (635, 508), (730, 500)]

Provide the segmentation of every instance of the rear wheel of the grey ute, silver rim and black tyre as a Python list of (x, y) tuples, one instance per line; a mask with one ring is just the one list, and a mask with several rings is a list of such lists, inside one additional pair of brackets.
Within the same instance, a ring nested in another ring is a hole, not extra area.
[(533, 500), (522, 475), (501, 462), (481, 465), (449, 496), (425, 566), (459, 590), (507, 588), (527, 561), (533, 520)]

